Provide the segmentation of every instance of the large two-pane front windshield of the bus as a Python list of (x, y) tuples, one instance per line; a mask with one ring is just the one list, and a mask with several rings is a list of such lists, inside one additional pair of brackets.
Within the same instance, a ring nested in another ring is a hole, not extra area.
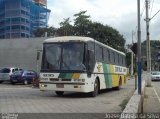
[(42, 70), (86, 70), (84, 43), (44, 44)]

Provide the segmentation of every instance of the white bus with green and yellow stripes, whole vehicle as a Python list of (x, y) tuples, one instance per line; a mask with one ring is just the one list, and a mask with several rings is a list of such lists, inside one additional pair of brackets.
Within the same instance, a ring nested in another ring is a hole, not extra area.
[(89, 93), (126, 83), (125, 54), (89, 37), (63, 36), (43, 43), (40, 90)]

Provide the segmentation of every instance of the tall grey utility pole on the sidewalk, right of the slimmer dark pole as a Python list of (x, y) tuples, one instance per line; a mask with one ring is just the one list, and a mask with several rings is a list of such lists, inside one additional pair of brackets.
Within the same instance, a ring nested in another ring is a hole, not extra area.
[(148, 9), (149, 9), (149, 1), (146, 0), (146, 51), (147, 51), (147, 86), (151, 86), (151, 51), (150, 51), (150, 39), (149, 39), (149, 16), (148, 16)]

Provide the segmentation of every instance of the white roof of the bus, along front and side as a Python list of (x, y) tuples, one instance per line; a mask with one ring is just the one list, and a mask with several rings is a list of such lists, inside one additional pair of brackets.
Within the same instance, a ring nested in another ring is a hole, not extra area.
[(44, 40), (44, 43), (56, 43), (56, 42), (73, 42), (73, 41), (79, 41), (79, 42), (95, 42), (103, 47), (107, 47), (108, 49), (111, 49), (115, 52), (118, 52), (122, 55), (125, 55), (125, 53), (123, 52), (120, 52), (106, 44), (103, 44), (99, 41), (96, 41), (94, 40), (93, 38), (90, 38), (90, 37), (84, 37), (84, 36), (61, 36), (61, 37), (54, 37), (54, 38), (49, 38), (49, 39), (46, 39)]

